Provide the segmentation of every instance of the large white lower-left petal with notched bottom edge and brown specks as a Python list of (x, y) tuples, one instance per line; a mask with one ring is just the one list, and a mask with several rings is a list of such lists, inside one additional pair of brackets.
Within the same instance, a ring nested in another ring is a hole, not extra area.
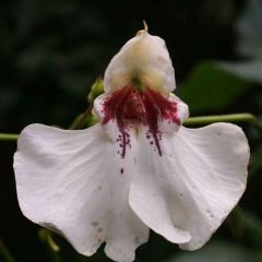
[(148, 228), (128, 205), (132, 151), (121, 158), (99, 124), (81, 131), (28, 126), (14, 169), (24, 215), (64, 235), (80, 253), (91, 255), (106, 241), (109, 258), (129, 262), (147, 240)]

